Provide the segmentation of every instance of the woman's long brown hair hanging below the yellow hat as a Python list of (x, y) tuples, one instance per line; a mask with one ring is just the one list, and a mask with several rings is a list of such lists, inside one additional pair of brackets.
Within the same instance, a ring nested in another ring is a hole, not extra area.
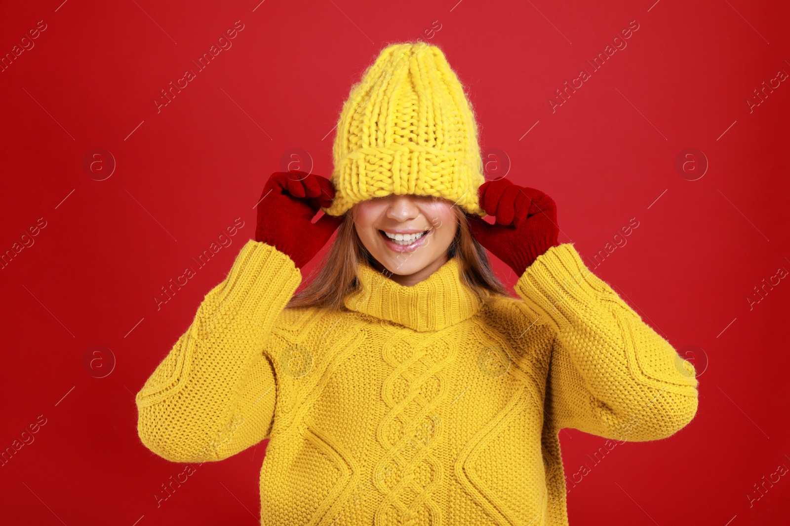
[[(458, 229), (447, 256), (458, 259), (461, 282), (483, 301), (490, 294), (511, 297), (505, 285), (491, 270), (486, 249), (472, 236), (464, 210), (453, 205), (453, 211)], [(337, 229), (337, 237), (329, 251), (310, 273), (307, 285), (296, 291), (285, 308), (343, 308), (345, 298), (359, 286), (356, 273), (360, 261), (366, 261), (371, 266), (374, 264), (371, 252), (368, 252), (356, 233), (352, 210), (349, 210)], [(386, 275), (389, 277), (391, 274)]]

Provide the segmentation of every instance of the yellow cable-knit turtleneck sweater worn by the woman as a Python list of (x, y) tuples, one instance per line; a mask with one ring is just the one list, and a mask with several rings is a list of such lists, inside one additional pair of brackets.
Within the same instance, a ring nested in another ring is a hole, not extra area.
[(285, 309), (302, 280), (248, 241), (137, 393), (170, 461), (270, 438), (261, 524), (567, 524), (562, 427), (665, 438), (694, 367), (582, 263), (538, 257), (521, 297), (476, 297), (450, 259), (406, 287), (363, 264), (347, 310)]

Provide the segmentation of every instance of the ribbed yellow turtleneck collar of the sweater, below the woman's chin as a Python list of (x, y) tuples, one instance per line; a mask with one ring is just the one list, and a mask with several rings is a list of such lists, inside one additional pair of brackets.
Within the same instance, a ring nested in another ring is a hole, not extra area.
[(407, 287), (362, 261), (359, 289), (345, 298), (345, 306), (419, 332), (442, 330), (472, 317), (482, 305), (461, 282), (460, 272), (457, 259), (450, 258), (427, 279)]

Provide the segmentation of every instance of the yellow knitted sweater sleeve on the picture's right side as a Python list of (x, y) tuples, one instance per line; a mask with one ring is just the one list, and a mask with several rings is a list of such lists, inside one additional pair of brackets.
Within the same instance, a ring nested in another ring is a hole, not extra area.
[(573, 244), (549, 248), (515, 289), (555, 325), (545, 404), (559, 428), (638, 442), (694, 418), (694, 366), (592, 274)]

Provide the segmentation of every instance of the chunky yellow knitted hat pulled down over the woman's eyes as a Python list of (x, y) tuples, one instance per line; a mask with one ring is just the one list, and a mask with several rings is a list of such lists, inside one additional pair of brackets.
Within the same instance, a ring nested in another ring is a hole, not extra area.
[(389, 194), (437, 196), (484, 216), (485, 182), (472, 106), (438, 47), (397, 43), (382, 50), (340, 112), (326, 214)]

